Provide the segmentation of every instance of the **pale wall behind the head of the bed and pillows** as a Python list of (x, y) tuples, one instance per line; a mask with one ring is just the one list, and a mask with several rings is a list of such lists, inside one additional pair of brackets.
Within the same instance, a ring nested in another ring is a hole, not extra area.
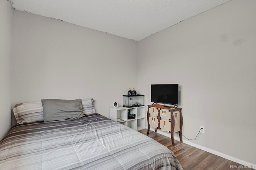
[(94, 98), (109, 117), (138, 87), (138, 42), (14, 10), (12, 106), (44, 98)]

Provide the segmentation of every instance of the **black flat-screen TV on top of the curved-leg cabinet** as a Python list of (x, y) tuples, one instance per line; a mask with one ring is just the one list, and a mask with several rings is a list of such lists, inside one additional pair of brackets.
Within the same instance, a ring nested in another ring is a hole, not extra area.
[(151, 102), (178, 105), (179, 84), (151, 84)]

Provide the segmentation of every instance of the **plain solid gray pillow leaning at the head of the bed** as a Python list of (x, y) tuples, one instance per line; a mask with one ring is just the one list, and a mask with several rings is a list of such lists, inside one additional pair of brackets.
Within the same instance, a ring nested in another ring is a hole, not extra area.
[(44, 121), (78, 119), (83, 116), (82, 100), (42, 99)]

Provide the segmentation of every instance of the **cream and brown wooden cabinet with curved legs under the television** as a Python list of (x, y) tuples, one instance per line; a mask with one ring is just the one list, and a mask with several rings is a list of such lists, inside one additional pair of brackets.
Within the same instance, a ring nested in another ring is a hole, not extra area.
[(148, 133), (150, 127), (155, 128), (155, 132), (157, 129), (167, 131), (171, 134), (172, 145), (175, 146), (173, 134), (174, 132), (179, 132), (180, 142), (182, 142), (183, 117), (181, 109), (180, 107), (170, 108), (158, 104), (148, 105)]

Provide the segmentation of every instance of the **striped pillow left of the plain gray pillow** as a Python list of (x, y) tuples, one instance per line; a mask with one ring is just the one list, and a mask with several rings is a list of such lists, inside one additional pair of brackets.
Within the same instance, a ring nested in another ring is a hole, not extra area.
[(41, 102), (16, 104), (13, 113), (17, 124), (44, 121)]

